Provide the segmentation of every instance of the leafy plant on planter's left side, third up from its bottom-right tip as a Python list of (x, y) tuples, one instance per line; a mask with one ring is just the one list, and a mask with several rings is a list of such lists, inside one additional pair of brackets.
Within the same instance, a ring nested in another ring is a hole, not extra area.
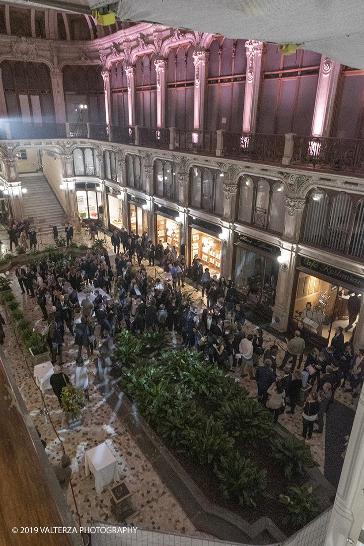
[(187, 426), (180, 441), (186, 453), (196, 455), (201, 464), (209, 464), (216, 456), (227, 453), (233, 444), (234, 439), (215, 423), (213, 416), (201, 423), (201, 427)]

